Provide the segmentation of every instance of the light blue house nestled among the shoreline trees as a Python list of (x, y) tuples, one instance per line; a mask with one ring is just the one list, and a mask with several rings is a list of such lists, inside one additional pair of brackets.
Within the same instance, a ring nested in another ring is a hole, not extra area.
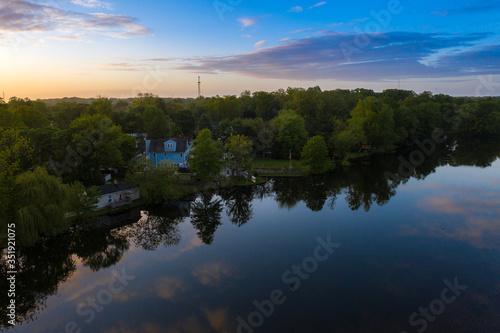
[(177, 164), (180, 168), (187, 168), (191, 149), (193, 149), (191, 138), (146, 140), (146, 157), (155, 165), (170, 162)]

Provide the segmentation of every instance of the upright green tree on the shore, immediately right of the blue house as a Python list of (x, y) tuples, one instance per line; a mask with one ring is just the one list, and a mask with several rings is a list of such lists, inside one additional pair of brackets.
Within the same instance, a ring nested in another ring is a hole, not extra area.
[(199, 132), (194, 144), (189, 154), (189, 169), (204, 179), (218, 174), (222, 168), (222, 147), (212, 139), (210, 131)]

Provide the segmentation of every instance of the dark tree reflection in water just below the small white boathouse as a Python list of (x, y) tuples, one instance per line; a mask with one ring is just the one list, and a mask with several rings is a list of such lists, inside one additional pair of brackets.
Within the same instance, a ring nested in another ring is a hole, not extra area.
[[(89, 239), (92, 241), (89, 242)], [(85, 238), (75, 239), (73, 245), (73, 250), (82, 258), (83, 265), (94, 272), (118, 263), (128, 249), (127, 236), (116, 231), (106, 233), (94, 231), (86, 234)]]

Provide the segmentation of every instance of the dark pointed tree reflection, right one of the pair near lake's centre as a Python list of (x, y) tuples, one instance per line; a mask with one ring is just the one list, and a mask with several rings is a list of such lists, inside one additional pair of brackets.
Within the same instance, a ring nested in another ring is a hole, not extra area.
[(226, 205), (226, 214), (232, 223), (241, 227), (252, 218), (252, 187), (242, 187), (239, 189), (223, 191), (221, 193), (221, 197)]

